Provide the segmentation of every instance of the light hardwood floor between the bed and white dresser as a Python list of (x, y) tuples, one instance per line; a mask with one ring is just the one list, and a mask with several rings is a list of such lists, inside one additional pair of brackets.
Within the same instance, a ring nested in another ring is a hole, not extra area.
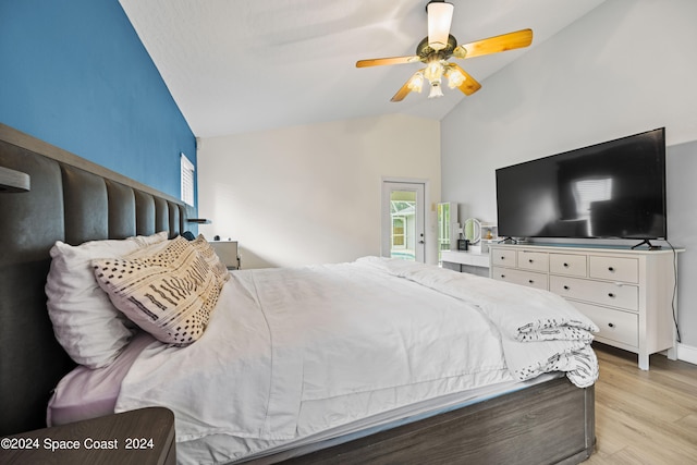
[(584, 465), (697, 464), (697, 365), (656, 354), (643, 371), (635, 354), (594, 347), (597, 445)]

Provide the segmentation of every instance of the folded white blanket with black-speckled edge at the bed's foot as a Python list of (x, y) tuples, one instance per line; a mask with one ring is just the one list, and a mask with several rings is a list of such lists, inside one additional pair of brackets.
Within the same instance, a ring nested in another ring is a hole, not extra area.
[(598, 379), (590, 342), (599, 329), (557, 294), (413, 261), (358, 261), (472, 304), (501, 332), (506, 364), (519, 381), (548, 371), (566, 372), (579, 388)]

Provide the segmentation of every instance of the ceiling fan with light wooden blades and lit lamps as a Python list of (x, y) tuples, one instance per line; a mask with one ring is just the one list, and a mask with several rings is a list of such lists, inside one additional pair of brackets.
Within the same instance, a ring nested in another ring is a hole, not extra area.
[(497, 53), (505, 50), (527, 47), (533, 42), (533, 30), (522, 29), (488, 39), (457, 45), (457, 39), (450, 34), (454, 7), (445, 1), (432, 0), (426, 5), (428, 14), (428, 36), (416, 47), (416, 54), (408, 57), (374, 58), (359, 60), (356, 68), (378, 66), (383, 64), (401, 64), (421, 62), (426, 68), (417, 71), (394, 94), (391, 101), (402, 101), (411, 91), (421, 91), (424, 81), (430, 85), (428, 98), (442, 97), (441, 81), (448, 79), (448, 87), (457, 87), (465, 95), (472, 95), (481, 88), (474, 77), (456, 63), (448, 60), (451, 57), (465, 59)]

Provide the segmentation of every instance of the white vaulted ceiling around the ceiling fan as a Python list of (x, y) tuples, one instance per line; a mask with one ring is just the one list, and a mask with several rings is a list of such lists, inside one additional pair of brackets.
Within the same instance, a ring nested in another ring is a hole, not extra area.
[[(461, 44), (526, 27), (526, 49), (458, 60), (487, 76), (604, 0), (450, 0)], [(390, 98), (420, 63), (356, 69), (413, 54), (427, 34), (426, 0), (120, 0), (197, 137), (387, 113), (440, 120), (465, 97)], [(484, 90), (482, 89), (482, 90)], [(482, 90), (479, 90), (481, 93)]]

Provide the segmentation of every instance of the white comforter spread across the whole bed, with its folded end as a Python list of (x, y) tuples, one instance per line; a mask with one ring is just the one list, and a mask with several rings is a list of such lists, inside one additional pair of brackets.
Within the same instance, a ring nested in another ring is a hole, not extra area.
[[(589, 386), (589, 331), (561, 297), (420, 264), (367, 257), (241, 270), (199, 341), (142, 353), (117, 412), (166, 405), (178, 452), (224, 463), (512, 378), (563, 370)], [(231, 441), (201, 445), (208, 436)]]

